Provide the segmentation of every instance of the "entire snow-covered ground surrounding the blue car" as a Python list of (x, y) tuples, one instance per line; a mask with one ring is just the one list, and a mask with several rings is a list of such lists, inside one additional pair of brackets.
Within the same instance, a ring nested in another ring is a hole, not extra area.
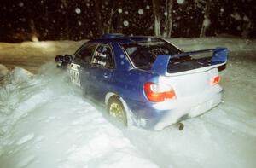
[(184, 121), (182, 131), (113, 125), (53, 62), (38, 68), (82, 42), (0, 43), (0, 64), (38, 72), (0, 66), (0, 167), (255, 167), (256, 41), (170, 41), (185, 50), (231, 51), (221, 72), (224, 102)]

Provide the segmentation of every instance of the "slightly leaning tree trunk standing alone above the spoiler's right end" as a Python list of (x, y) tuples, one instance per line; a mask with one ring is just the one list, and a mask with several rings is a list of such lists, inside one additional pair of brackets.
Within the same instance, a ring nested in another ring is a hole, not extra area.
[(201, 32), (200, 32), (200, 37), (205, 37), (206, 36), (206, 32), (207, 32), (207, 28), (210, 26), (211, 24), (211, 20), (210, 20), (210, 9), (211, 9), (211, 5), (212, 5), (212, 0), (207, 0), (206, 2), (206, 6), (204, 9), (204, 20), (202, 22), (201, 25)]

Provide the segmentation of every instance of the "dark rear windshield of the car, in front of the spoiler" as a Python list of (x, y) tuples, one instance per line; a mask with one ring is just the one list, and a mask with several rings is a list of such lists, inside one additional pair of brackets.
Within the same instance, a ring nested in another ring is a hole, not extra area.
[(182, 52), (171, 43), (161, 40), (125, 43), (122, 44), (122, 47), (133, 64), (144, 69), (152, 67), (157, 55), (173, 55)]

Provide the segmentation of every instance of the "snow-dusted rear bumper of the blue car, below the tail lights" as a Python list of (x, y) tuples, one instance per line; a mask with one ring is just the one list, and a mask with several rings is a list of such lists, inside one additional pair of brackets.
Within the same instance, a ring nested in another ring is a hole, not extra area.
[(221, 101), (222, 88), (216, 86), (197, 96), (180, 98), (160, 103), (138, 103), (126, 101), (131, 109), (132, 120), (149, 130), (162, 130), (183, 119), (193, 118), (216, 107)]

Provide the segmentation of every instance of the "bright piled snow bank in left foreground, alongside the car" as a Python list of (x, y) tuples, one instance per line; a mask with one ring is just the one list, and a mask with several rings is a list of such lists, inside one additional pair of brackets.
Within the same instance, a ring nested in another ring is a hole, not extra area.
[(12, 101), (0, 110), (1, 167), (157, 167), (102, 118), (102, 109), (84, 101), (73, 85), (62, 84), (65, 74), (53, 64), (42, 71), (31, 76), (15, 68), (5, 81), (9, 91), (0, 91)]

